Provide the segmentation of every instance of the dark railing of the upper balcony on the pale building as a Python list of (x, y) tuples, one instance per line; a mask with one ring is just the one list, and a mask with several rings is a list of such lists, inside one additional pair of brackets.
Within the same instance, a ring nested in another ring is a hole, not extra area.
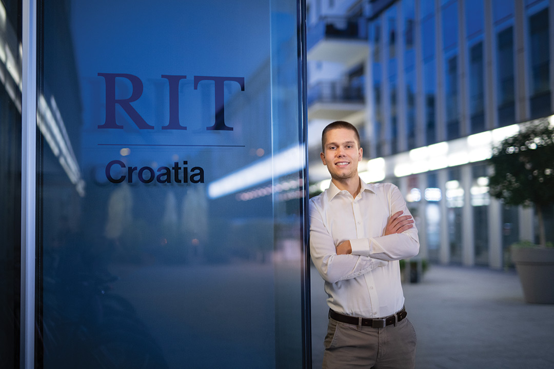
[(367, 40), (367, 19), (323, 17), (307, 31), (307, 49), (325, 38)]

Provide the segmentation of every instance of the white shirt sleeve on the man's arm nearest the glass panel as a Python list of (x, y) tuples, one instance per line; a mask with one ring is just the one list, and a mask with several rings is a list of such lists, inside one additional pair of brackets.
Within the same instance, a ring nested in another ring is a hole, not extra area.
[(361, 255), (337, 255), (336, 245), (322, 221), (317, 207), (310, 202), (310, 256), (321, 277), (329, 283), (361, 276), (386, 261)]

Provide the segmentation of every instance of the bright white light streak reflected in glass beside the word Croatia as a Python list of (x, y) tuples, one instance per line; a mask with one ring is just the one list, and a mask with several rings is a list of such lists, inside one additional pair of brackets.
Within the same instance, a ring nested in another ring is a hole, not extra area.
[(296, 145), (208, 185), (208, 197), (217, 199), (304, 168), (304, 145)]

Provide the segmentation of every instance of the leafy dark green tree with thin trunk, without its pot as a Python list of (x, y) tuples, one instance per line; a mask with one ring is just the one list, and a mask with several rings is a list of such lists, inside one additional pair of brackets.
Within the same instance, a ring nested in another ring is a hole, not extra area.
[(554, 205), (554, 127), (548, 119), (526, 124), (493, 148), (489, 192), (507, 205), (535, 205), (539, 244), (546, 246), (544, 210)]

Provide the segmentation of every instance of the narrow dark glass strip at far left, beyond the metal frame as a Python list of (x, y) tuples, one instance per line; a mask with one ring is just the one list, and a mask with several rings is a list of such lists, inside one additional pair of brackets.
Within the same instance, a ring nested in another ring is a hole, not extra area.
[[(21, 255), (20, 2), (0, 2), (0, 366), (19, 367)], [(8, 58), (6, 58), (8, 55)]]

